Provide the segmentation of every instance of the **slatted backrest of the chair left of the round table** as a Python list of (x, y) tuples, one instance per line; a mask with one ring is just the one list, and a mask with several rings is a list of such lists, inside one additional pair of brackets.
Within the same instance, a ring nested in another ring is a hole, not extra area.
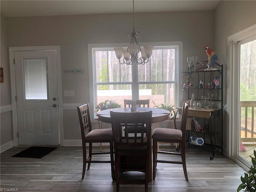
[(85, 144), (85, 132), (92, 130), (92, 124), (90, 119), (89, 104), (83, 104), (77, 107), (78, 118), (80, 122), (80, 130), (82, 134), (82, 143)]

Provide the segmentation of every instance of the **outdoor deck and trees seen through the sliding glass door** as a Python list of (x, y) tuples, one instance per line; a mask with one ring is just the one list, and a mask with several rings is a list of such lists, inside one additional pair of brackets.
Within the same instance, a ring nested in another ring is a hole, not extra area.
[(238, 42), (240, 66), (240, 130), (238, 155), (252, 162), (256, 150), (256, 37)]

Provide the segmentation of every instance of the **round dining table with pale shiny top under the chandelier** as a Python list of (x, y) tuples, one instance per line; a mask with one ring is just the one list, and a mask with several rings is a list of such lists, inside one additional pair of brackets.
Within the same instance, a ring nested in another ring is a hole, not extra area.
[[(120, 112), (120, 113), (123, 113), (124, 115), (127, 113), (142, 113), (142, 112), (152, 111), (152, 123), (158, 123), (158, 122), (168, 120), (170, 115), (170, 112), (168, 110), (161, 109), (161, 108), (138, 107), (136, 112), (131, 112), (131, 108), (114, 108), (114, 109), (106, 109), (98, 112), (97, 113), (98, 120), (106, 123), (111, 123), (110, 111)], [(150, 132), (150, 138), (151, 138), (151, 132)], [(152, 152), (152, 145), (150, 145), (150, 151)], [(151, 158), (149, 158), (149, 162), (148, 162), (148, 166), (150, 170), (148, 182), (152, 182), (152, 156), (150, 155), (150, 157)]]

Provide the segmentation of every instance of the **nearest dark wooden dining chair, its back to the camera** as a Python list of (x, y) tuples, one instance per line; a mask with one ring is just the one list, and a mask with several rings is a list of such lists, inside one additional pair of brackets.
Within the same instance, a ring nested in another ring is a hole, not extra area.
[[(112, 121), (112, 134), (115, 154), (116, 192), (120, 184), (144, 184), (145, 192), (148, 191), (148, 181), (151, 165), (151, 118), (152, 111), (118, 113), (110, 111)], [(137, 129), (144, 125), (144, 129)], [(123, 131), (123, 126), (133, 126), (134, 135)], [(129, 179), (122, 177), (124, 172), (143, 172), (144, 179), (136, 176)]]

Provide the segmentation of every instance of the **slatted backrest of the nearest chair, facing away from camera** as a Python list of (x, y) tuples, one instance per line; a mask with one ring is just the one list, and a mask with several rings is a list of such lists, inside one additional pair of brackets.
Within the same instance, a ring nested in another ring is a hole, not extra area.
[[(138, 113), (119, 113), (110, 111), (114, 147), (120, 146), (147, 146), (151, 139), (152, 111)], [(141, 129), (144, 124), (145, 129)], [(129, 127), (135, 127), (134, 134), (124, 132)], [(140, 128), (138, 128), (140, 127)], [(138, 128), (138, 129), (137, 129)], [(147, 137), (148, 136), (148, 137)]]

